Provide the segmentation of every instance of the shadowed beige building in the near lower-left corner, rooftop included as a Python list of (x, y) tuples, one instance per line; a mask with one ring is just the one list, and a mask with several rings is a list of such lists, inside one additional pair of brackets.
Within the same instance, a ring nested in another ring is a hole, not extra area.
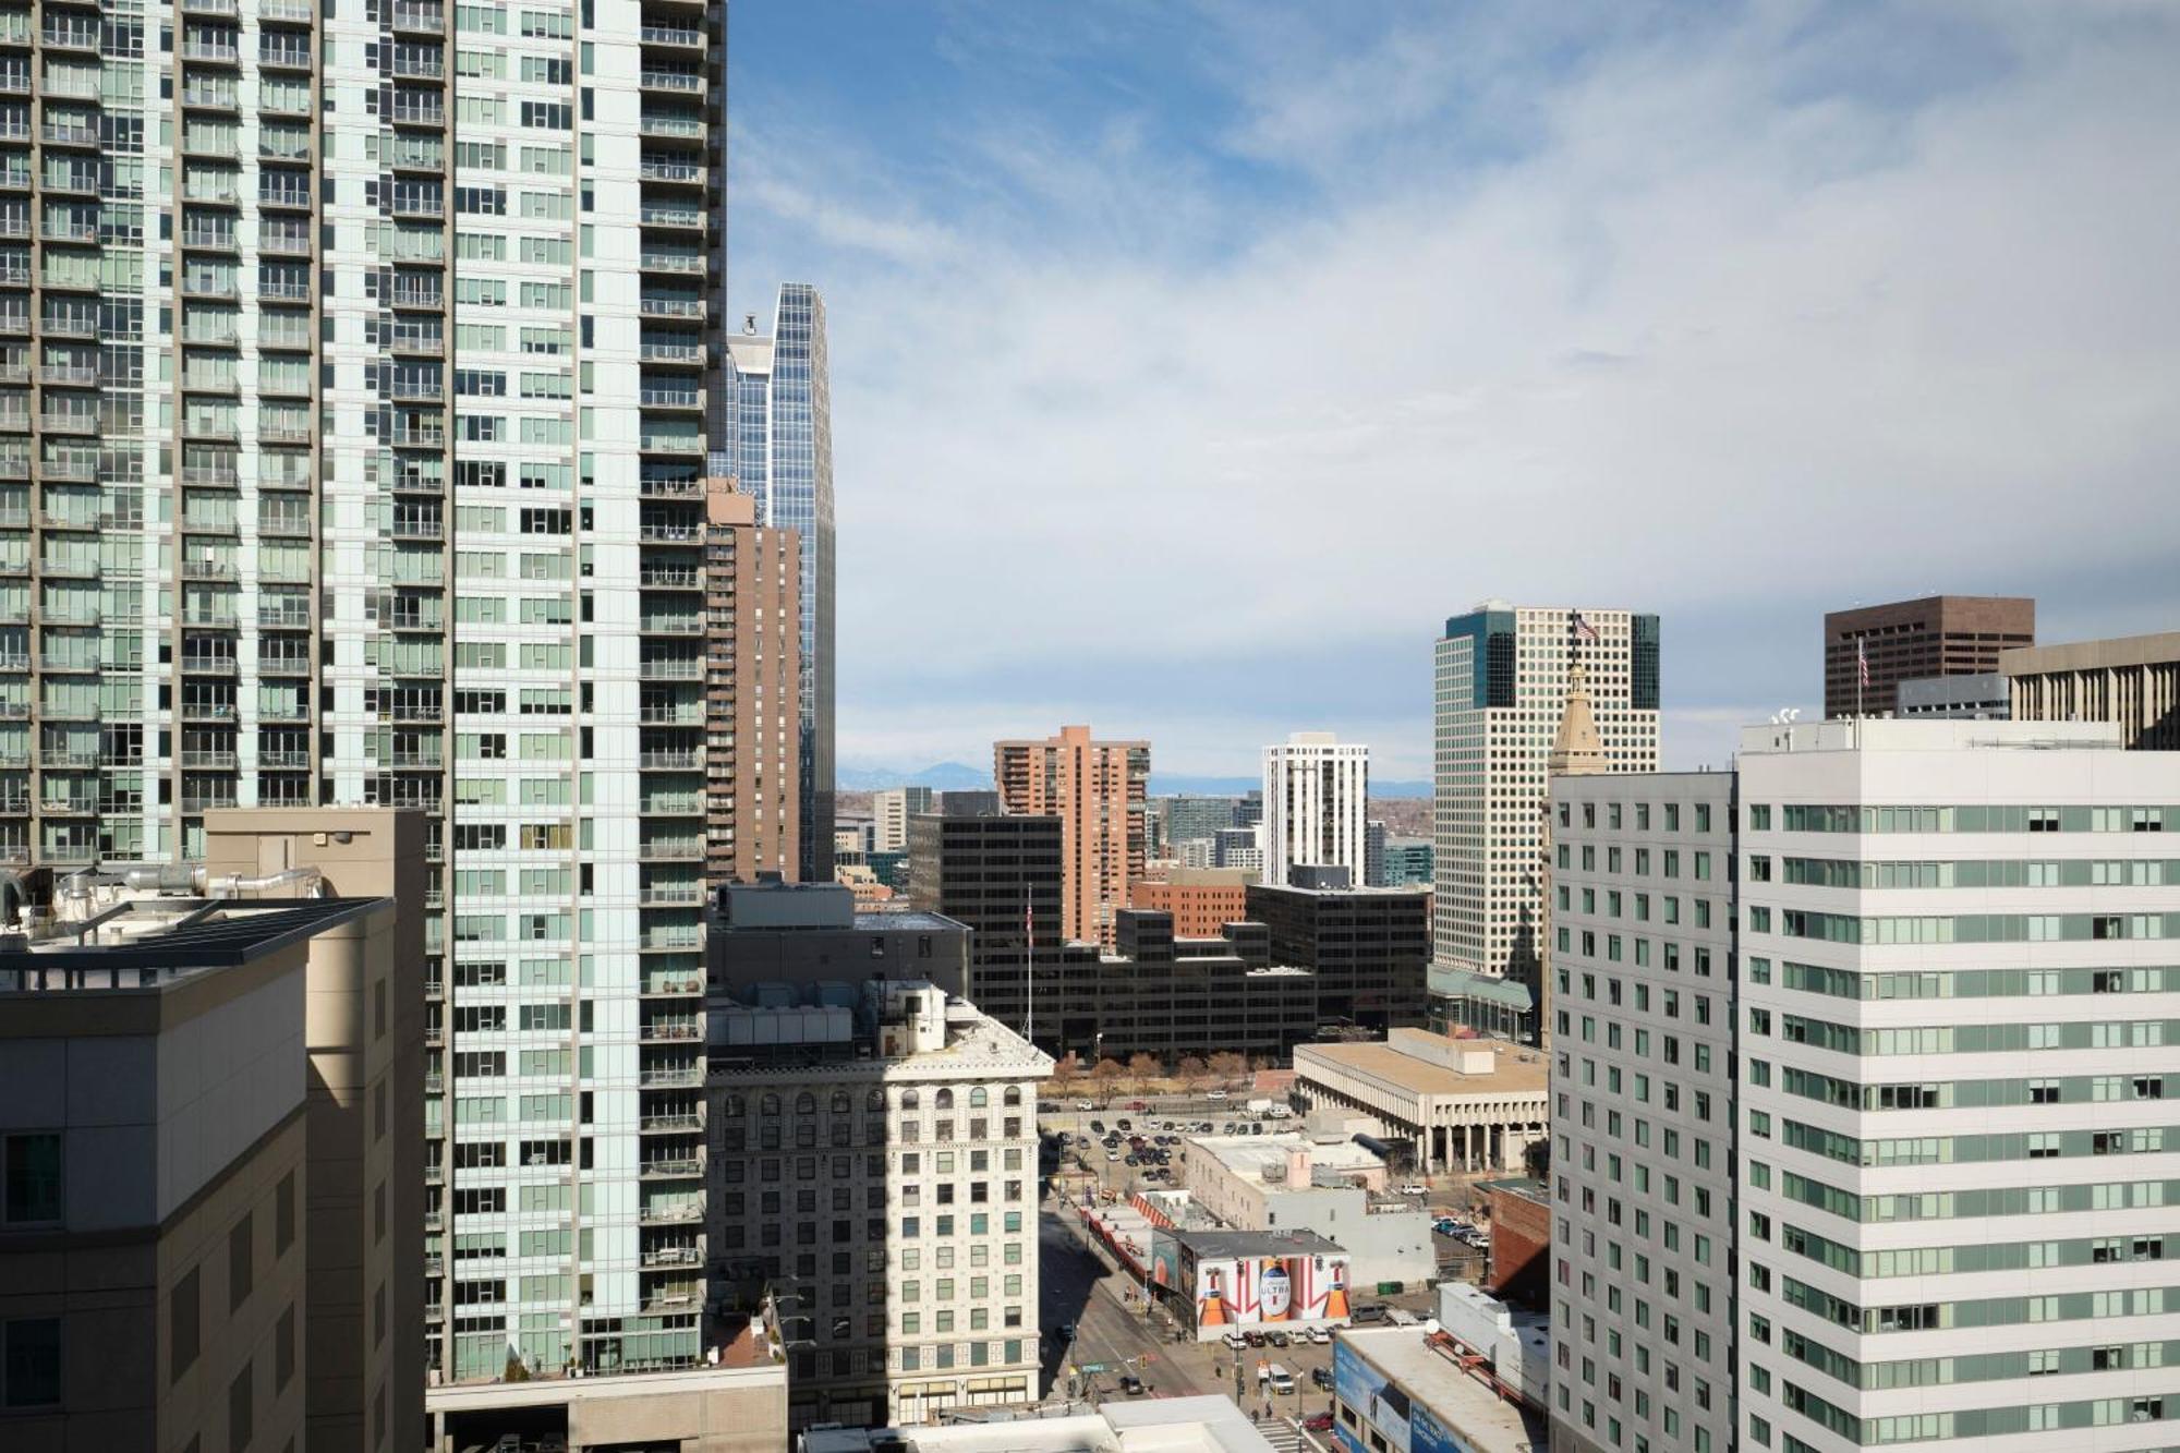
[(225, 816), (0, 945), (9, 1449), (425, 1442), (423, 822)]

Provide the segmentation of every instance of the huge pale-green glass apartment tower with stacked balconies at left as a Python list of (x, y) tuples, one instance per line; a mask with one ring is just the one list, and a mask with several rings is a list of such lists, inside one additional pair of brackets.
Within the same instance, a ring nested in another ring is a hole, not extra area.
[(0, 11), (0, 851), (429, 814), (445, 1379), (700, 1357), (722, 83), (698, 0)]

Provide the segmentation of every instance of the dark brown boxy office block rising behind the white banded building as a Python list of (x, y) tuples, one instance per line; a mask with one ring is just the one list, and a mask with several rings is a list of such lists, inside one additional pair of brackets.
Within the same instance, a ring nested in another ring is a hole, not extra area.
[[(1825, 615), (1825, 718), (1890, 716), (1901, 681), (1999, 670), (1999, 652), (2036, 644), (2025, 596), (1929, 596)], [(1860, 655), (1857, 655), (1860, 648)], [(1870, 683), (1860, 687), (1862, 661)], [(1857, 696), (1860, 687), (1860, 696)]]

